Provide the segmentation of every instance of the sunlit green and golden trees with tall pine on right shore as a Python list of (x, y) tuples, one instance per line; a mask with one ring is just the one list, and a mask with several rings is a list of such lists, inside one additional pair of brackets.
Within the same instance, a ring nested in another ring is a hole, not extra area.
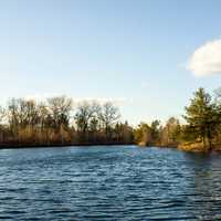
[(221, 150), (221, 90), (213, 95), (200, 87), (185, 107), (183, 124), (171, 117), (165, 126), (159, 120), (141, 123), (135, 140), (145, 146), (179, 147), (183, 150)]

